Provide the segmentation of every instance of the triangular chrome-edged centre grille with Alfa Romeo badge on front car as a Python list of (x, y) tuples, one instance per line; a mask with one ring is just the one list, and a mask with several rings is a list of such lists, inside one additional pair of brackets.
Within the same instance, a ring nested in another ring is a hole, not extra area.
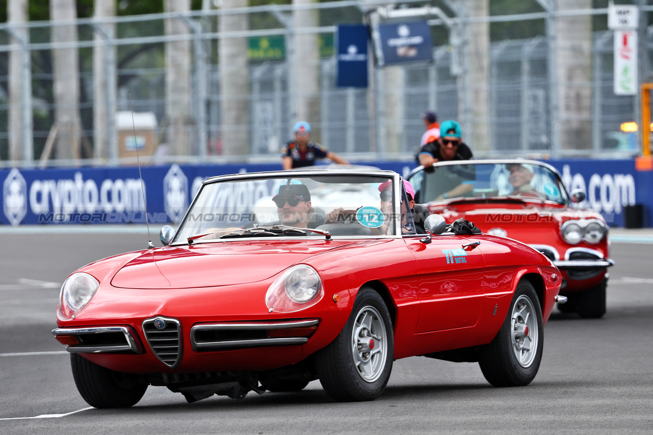
[[(163, 328), (156, 323), (163, 321)], [(177, 367), (182, 359), (182, 325), (179, 320), (157, 316), (143, 322), (143, 332), (150, 349), (168, 367)]]

